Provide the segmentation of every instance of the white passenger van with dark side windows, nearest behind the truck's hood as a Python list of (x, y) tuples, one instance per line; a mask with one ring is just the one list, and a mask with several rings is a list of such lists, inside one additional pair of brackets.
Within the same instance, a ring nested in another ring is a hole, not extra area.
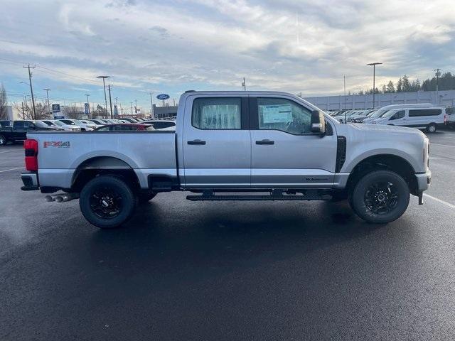
[(372, 124), (389, 126), (409, 126), (425, 129), (434, 133), (437, 127), (444, 126), (446, 109), (441, 107), (391, 109), (382, 117), (374, 119)]

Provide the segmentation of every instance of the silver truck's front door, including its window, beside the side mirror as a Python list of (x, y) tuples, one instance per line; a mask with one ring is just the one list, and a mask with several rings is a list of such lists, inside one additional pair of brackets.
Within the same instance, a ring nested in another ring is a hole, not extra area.
[(311, 108), (292, 97), (250, 97), (252, 187), (331, 188), (336, 135), (311, 133)]

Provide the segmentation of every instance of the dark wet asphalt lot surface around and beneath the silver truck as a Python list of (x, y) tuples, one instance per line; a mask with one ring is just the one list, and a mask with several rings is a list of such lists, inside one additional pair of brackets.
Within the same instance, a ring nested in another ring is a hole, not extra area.
[(329, 202), (162, 193), (100, 231), (77, 200), (23, 193), (0, 148), (0, 340), (453, 340), (455, 133), (432, 187), (387, 225)]

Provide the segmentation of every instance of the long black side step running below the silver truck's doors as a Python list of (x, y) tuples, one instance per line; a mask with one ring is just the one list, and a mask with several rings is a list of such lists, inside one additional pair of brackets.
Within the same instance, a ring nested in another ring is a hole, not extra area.
[(274, 200), (331, 200), (332, 196), (326, 193), (318, 193), (316, 190), (309, 190), (307, 193), (299, 195), (284, 195), (283, 193), (272, 192), (270, 195), (213, 195), (213, 193), (203, 195), (187, 195), (187, 200), (191, 201), (274, 201)]

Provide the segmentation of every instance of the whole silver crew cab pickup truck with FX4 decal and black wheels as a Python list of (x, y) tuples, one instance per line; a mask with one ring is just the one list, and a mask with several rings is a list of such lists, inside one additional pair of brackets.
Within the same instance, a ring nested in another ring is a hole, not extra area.
[(431, 180), (417, 129), (339, 124), (284, 92), (188, 91), (179, 104), (176, 131), (29, 133), (22, 190), (79, 198), (101, 228), (171, 190), (193, 201), (349, 200), (363, 220), (387, 223), (410, 194), (422, 204)]

